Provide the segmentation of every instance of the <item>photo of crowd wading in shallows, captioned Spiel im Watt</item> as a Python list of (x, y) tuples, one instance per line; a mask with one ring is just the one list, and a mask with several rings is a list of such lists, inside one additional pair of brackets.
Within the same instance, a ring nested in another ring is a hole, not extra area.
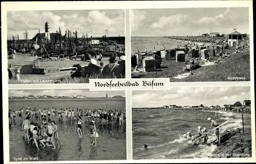
[(9, 90), (9, 160), (126, 160), (124, 91)]

